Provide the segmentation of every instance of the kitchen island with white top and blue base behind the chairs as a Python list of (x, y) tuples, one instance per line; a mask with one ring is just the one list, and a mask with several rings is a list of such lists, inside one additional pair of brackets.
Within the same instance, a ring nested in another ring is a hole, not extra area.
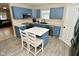
[(49, 31), (49, 29), (41, 28), (41, 27), (32, 27), (32, 28), (26, 29), (24, 31), (25, 32), (30, 32), (30, 33), (33, 33), (33, 34), (37, 35), (38, 38), (43, 39), (44, 46), (47, 45), (47, 43), (48, 43), (48, 31)]

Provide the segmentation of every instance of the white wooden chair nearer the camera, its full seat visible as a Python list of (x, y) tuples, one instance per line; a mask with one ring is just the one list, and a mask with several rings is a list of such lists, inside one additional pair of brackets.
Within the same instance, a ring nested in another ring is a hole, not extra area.
[[(33, 55), (36, 56), (40, 51), (43, 51), (43, 45), (44, 45), (43, 40), (36, 38), (36, 35), (33, 33), (28, 32), (27, 34), (28, 34), (28, 41), (30, 44), (29, 52), (31, 52)], [(33, 48), (34, 48), (34, 50), (33, 50)]]

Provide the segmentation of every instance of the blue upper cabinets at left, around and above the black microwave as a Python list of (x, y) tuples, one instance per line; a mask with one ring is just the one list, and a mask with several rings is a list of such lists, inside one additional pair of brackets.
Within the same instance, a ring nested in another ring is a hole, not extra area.
[(12, 13), (14, 19), (23, 19), (23, 13), (32, 15), (32, 9), (12, 6)]

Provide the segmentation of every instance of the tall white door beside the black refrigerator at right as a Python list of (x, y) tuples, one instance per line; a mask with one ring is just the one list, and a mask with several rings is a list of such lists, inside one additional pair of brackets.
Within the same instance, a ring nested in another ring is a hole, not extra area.
[(64, 20), (64, 27), (62, 37), (60, 38), (68, 46), (71, 46), (71, 39), (74, 35), (74, 26), (78, 19), (78, 5), (67, 6), (66, 16)]

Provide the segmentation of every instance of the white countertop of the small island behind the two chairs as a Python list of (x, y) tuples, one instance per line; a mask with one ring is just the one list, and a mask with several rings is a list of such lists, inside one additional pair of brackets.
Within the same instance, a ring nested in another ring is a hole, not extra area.
[(32, 27), (24, 30), (25, 32), (30, 32), (38, 36), (42, 36), (44, 33), (48, 32), (49, 29), (41, 28), (41, 27)]

